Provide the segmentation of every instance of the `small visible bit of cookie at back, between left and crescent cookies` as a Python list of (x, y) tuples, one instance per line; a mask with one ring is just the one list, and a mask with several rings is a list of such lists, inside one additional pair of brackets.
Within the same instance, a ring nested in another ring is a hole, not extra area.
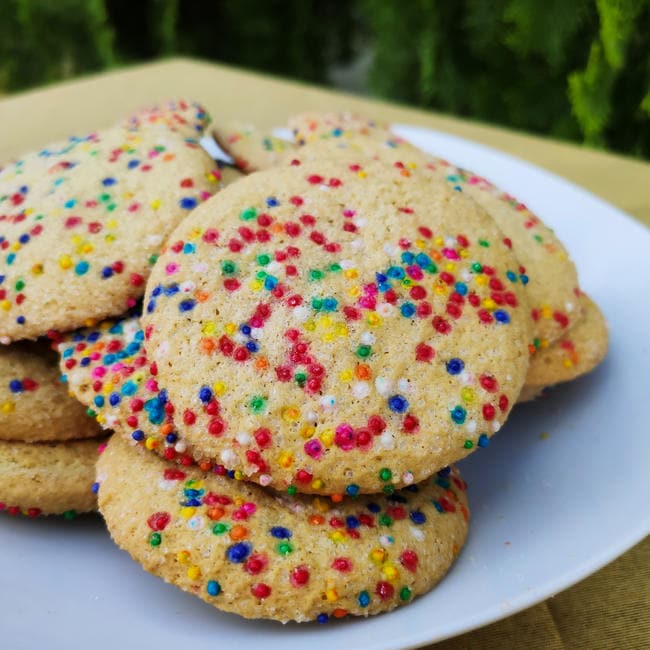
[(219, 146), (249, 173), (275, 167), (294, 144), (242, 122), (220, 122), (212, 129)]

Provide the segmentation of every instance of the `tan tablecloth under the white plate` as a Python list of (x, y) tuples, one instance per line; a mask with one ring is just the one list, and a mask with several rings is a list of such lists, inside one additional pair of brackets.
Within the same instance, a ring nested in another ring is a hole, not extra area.
[[(352, 110), (428, 126), (525, 158), (582, 185), (650, 225), (650, 165), (502, 128), (369, 101), (209, 63), (173, 59), (7, 97), (0, 101), (0, 160), (112, 124), (143, 105), (197, 98), (215, 119), (270, 127), (289, 114)], [(650, 541), (573, 588), (503, 621), (435, 646), (461, 648), (650, 648)]]

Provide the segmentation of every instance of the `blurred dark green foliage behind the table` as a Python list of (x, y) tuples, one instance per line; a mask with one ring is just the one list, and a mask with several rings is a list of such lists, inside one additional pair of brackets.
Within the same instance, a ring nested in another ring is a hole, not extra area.
[(650, 0), (0, 0), (0, 89), (184, 54), (650, 158)]

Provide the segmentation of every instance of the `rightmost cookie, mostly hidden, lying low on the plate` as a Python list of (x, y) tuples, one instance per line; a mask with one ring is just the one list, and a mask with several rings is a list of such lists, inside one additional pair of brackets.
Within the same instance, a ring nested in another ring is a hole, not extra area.
[(547, 386), (591, 372), (605, 358), (609, 337), (605, 317), (586, 294), (579, 301), (583, 316), (569, 334), (531, 357), (520, 401), (534, 398)]

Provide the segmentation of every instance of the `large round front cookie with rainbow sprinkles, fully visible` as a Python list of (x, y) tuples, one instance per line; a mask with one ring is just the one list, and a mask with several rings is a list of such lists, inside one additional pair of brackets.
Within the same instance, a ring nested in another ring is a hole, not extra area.
[(226, 188), (175, 231), (145, 297), (183, 436), (262, 485), (350, 495), (485, 446), (528, 367), (502, 239), (462, 194), (372, 161)]

